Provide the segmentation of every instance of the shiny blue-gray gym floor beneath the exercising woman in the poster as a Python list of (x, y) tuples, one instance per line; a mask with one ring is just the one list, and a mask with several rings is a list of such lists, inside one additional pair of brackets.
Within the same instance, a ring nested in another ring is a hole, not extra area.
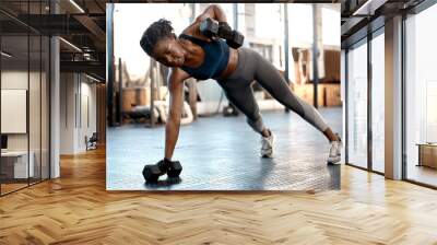
[[(319, 110), (333, 131), (341, 132), (342, 109)], [(238, 117), (199, 118), (181, 126), (174, 160), (181, 162), (180, 179), (160, 177), (144, 183), (144, 164), (163, 158), (163, 126), (107, 129), (108, 190), (328, 190), (340, 188), (340, 166), (327, 165), (329, 143), (294, 113), (262, 112), (275, 136), (274, 158), (262, 159), (260, 137)]]

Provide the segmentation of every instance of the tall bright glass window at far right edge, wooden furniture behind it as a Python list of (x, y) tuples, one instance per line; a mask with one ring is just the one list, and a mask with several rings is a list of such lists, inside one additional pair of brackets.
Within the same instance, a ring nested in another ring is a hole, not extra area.
[(437, 5), (405, 20), (406, 178), (437, 186)]

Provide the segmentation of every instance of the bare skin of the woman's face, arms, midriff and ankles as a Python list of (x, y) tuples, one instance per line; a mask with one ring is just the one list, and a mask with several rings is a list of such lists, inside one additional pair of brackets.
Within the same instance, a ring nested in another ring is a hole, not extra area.
[[(208, 18), (226, 22), (226, 15), (224, 11), (218, 5), (211, 4), (196, 19), (190, 26), (184, 30), (182, 33), (204, 39), (206, 42), (211, 42), (211, 39), (203, 36), (199, 30), (200, 23)], [(168, 79), (168, 89), (170, 95), (169, 115), (165, 125), (165, 158), (170, 160), (179, 137), (180, 117), (184, 105), (184, 81), (191, 78), (191, 75), (180, 69), (180, 67), (200, 67), (203, 63), (204, 51), (200, 46), (192, 44), (187, 39), (179, 39), (174, 36), (160, 40), (153, 49), (152, 57), (156, 59), (156, 61), (172, 68)], [(236, 49), (229, 48), (229, 60), (227, 67), (220, 77), (222, 79), (228, 77), (236, 69), (237, 63), (238, 52)], [(270, 133), (271, 132), (268, 128), (264, 128), (261, 132), (263, 137), (269, 137)], [(330, 128), (324, 130), (323, 135), (330, 141), (339, 140)]]

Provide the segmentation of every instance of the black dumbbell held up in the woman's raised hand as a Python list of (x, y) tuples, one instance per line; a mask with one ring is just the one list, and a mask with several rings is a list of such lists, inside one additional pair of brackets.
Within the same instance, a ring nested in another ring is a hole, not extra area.
[(226, 22), (216, 22), (210, 18), (200, 23), (200, 32), (209, 37), (220, 37), (226, 40), (232, 48), (241, 47), (245, 36), (238, 31), (233, 31)]

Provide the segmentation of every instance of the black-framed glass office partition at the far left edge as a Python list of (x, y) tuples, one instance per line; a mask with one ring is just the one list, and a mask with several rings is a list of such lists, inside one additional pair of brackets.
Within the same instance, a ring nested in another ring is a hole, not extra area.
[[(4, 2), (9, 4), (12, 7), (16, 2)], [(48, 1), (20, 2), (19, 5), (14, 10), (20, 14), (47, 14)], [(15, 22), (3, 14), (0, 19)], [(4, 140), (0, 195), (47, 179), (50, 171), (49, 38), (24, 25), (19, 26), (23, 27), (0, 26), (0, 121)], [(15, 110), (11, 109), (12, 105)], [(12, 116), (19, 119), (12, 121)]]

